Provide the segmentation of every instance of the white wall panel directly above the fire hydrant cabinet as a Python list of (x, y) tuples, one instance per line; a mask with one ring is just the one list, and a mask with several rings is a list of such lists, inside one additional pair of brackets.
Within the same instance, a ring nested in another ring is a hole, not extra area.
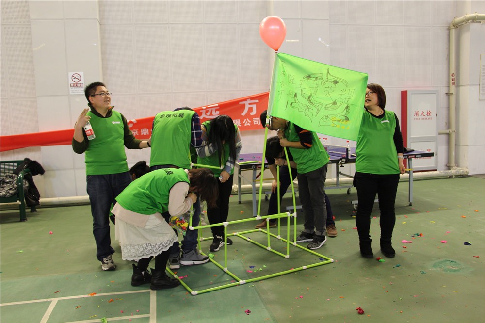
[(406, 27), (405, 48), (405, 85), (431, 86), (431, 29)]

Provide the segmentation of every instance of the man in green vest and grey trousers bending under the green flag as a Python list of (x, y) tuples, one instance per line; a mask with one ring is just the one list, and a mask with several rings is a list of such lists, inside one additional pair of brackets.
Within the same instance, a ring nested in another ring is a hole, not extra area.
[[(266, 120), (267, 111), (261, 113)], [(288, 147), (297, 164), (298, 191), (305, 216), (304, 230), (296, 237), (296, 242), (310, 242), (308, 249), (318, 249), (326, 242), (324, 185), (327, 174), (328, 153), (313, 131), (308, 131), (291, 121), (269, 116), (267, 125), (277, 130), (279, 143)]]

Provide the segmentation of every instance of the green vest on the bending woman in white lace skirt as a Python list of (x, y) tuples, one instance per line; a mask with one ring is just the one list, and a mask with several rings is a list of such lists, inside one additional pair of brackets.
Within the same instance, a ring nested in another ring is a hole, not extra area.
[(136, 213), (163, 213), (168, 211), (170, 190), (178, 182), (190, 185), (189, 177), (182, 168), (157, 169), (132, 181), (116, 197), (116, 201), (123, 208)]

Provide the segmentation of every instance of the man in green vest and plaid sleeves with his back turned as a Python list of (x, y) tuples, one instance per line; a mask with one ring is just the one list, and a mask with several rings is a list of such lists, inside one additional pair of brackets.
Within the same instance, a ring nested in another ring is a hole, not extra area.
[[(150, 169), (161, 168), (191, 168), (191, 151), (202, 145), (202, 130), (199, 115), (188, 107), (174, 111), (162, 111), (153, 119)], [(200, 221), (200, 201), (194, 203), (192, 225), (198, 226)], [(182, 240), (182, 255), (179, 243), (170, 248), (168, 264), (171, 269), (180, 268), (180, 264), (200, 265), (209, 261), (197, 250), (197, 232), (187, 228)]]

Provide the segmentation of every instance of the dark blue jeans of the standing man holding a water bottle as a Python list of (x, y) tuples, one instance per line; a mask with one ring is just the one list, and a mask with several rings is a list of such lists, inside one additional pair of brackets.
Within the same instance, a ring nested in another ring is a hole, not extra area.
[(87, 192), (93, 215), (93, 235), (96, 240), (96, 258), (112, 255), (110, 236), (110, 209), (118, 196), (131, 183), (129, 172), (109, 175), (86, 176)]

